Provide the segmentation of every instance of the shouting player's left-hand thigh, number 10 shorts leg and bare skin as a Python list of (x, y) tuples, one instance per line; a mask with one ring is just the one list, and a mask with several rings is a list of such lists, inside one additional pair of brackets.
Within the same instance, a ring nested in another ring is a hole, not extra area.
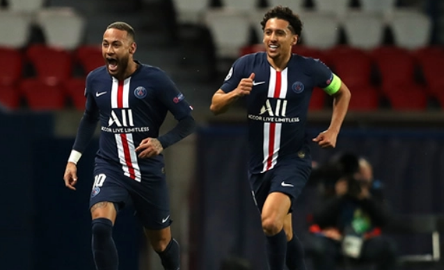
[(90, 212), (92, 219), (105, 218), (116, 221), (118, 209), (129, 199), (129, 193), (118, 174), (111, 170), (96, 168), (93, 189), (90, 194)]

